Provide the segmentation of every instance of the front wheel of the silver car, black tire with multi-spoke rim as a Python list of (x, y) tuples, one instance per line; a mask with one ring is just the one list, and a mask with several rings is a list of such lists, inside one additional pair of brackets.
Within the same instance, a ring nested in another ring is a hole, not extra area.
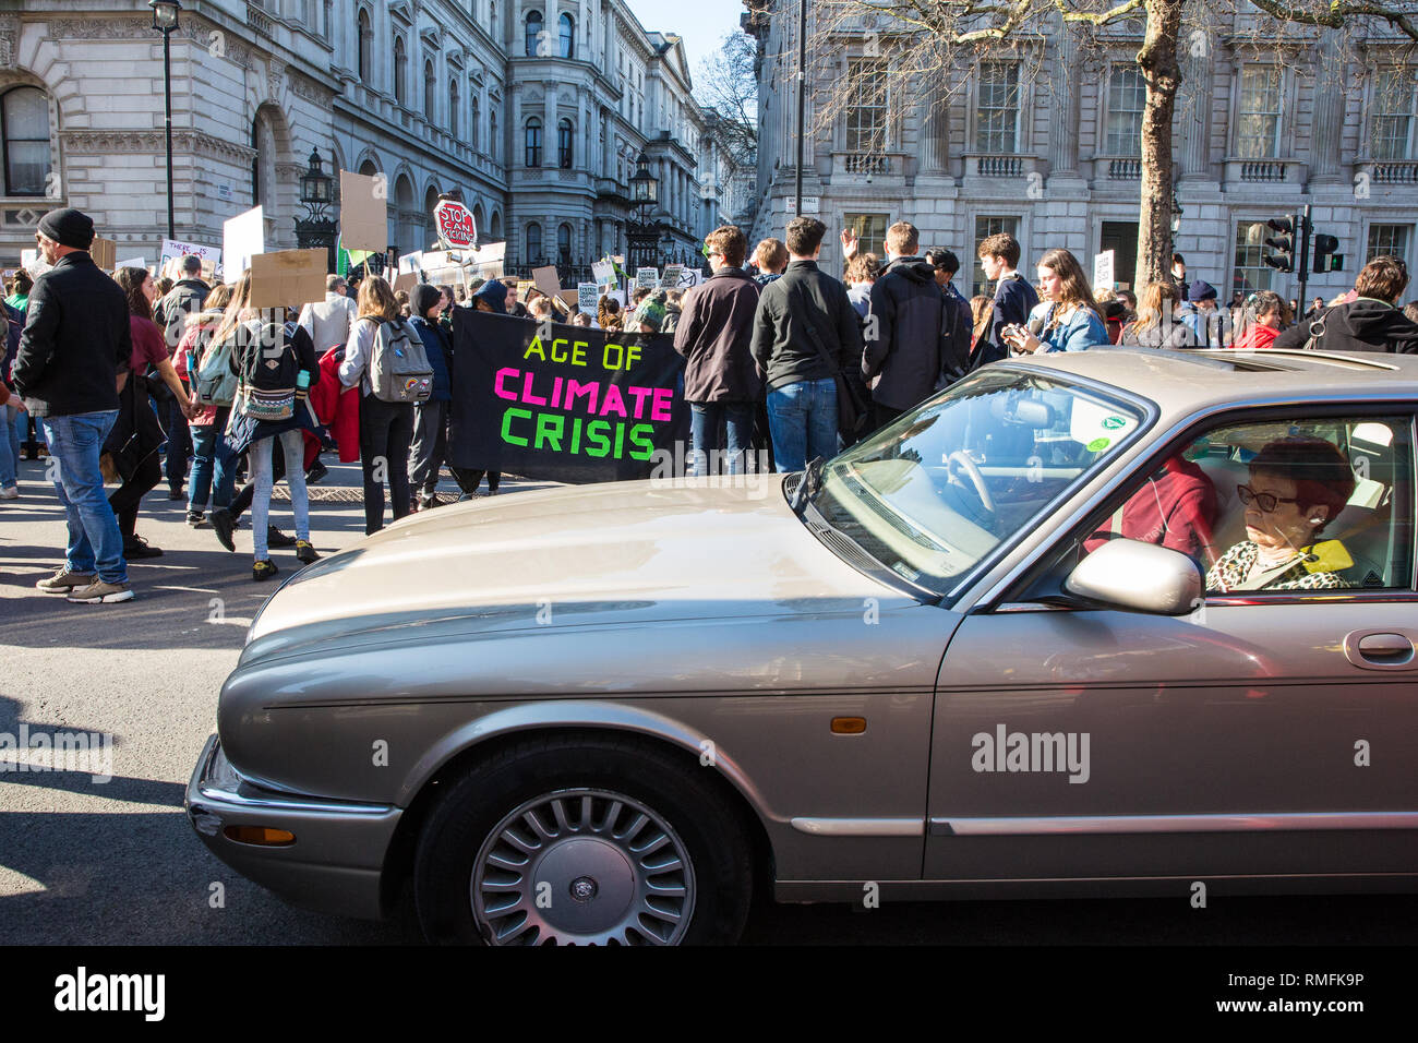
[[(476, 763), (450, 785), (418, 837), (414, 905), (424, 935), (438, 944), (737, 941), (753, 898), (749, 834), (702, 775), (713, 769), (686, 763), (614, 736), (529, 739)], [(509, 866), (519, 859), (526, 863)]]

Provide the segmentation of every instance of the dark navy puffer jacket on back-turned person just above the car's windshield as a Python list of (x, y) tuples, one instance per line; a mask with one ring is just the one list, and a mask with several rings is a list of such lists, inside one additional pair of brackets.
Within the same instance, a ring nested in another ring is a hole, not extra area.
[(862, 376), (881, 376), (872, 402), (909, 409), (936, 390), (944, 304), (936, 270), (919, 257), (898, 257), (872, 284), (862, 352)]

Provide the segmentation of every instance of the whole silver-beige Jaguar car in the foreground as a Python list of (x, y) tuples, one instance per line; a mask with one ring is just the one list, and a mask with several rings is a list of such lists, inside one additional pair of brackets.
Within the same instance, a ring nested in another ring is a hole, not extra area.
[(807, 473), (406, 518), (251, 624), (187, 813), (432, 941), (1412, 888), (1418, 358), (988, 366)]

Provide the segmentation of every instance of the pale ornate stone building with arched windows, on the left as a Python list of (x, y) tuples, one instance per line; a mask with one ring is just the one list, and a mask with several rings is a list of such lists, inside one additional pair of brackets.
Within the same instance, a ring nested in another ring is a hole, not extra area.
[[(0, 264), (55, 206), (91, 213), (121, 257), (157, 260), (162, 58), (135, 0), (0, 14)], [(509, 264), (624, 248), (642, 149), (666, 254), (698, 250), (722, 209), (699, 183), (679, 38), (645, 31), (624, 0), (189, 0), (172, 75), (179, 240), (220, 244), (223, 221), (261, 203), (268, 248), (294, 247), (312, 149), (326, 172), (386, 176), (404, 253), (432, 241), (432, 206), (454, 190)]]

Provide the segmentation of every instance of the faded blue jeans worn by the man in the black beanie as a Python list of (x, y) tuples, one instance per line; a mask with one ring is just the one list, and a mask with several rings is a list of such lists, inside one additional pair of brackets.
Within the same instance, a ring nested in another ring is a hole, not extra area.
[(50, 456), (60, 461), (54, 490), (68, 521), (69, 545), (64, 556), (69, 572), (88, 575), (96, 570), (105, 583), (126, 583), (123, 536), (118, 531), (118, 517), (104, 495), (104, 473), (98, 467), (104, 440), (115, 420), (118, 410), (111, 409), (44, 417), (43, 427)]

